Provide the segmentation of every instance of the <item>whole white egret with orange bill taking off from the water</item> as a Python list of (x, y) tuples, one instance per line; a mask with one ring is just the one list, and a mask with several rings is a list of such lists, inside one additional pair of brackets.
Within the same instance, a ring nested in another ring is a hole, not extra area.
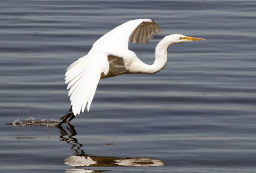
[(93, 44), (86, 56), (70, 64), (65, 73), (65, 82), (68, 84), (71, 108), (61, 117), (60, 124), (69, 123), (80, 112), (84, 112), (86, 105), (89, 111), (100, 79), (127, 73), (156, 73), (166, 65), (170, 45), (204, 40), (182, 34), (165, 36), (156, 46), (156, 58), (152, 65), (143, 63), (129, 50), (129, 41), (138, 44), (148, 43), (148, 38), (152, 39), (152, 35), (160, 31), (154, 20), (130, 20), (104, 34)]

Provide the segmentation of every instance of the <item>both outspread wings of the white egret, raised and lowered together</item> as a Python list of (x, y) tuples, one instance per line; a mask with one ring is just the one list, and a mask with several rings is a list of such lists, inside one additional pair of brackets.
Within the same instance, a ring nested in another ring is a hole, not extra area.
[[(108, 55), (126, 55), (128, 43), (148, 43), (160, 27), (151, 19), (130, 20), (109, 31), (94, 44), (87, 56), (72, 63), (65, 74), (74, 115), (89, 111), (101, 73), (109, 71)], [(103, 53), (104, 52), (104, 53)], [(121, 53), (120, 53), (121, 52)], [(118, 71), (117, 71), (118, 72)]]

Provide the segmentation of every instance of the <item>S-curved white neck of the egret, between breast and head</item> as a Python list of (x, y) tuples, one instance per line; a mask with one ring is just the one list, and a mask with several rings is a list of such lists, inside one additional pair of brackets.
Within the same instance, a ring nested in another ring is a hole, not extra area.
[(148, 65), (140, 61), (140, 59), (137, 59), (136, 61), (136, 72), (135, 73), (145, 73), (145, 74), (152, 74), (156, 73), (164, 68), (164, 66), (167, 64), (168, 58), (167, 58), (167, 50), (170, 45), (172, 45), (173, 42), (170, 43), (170, 40), (168, 38), (164, 37), (163, 40), (159, 41), (159, 43), (156, 46), (155, 51), (155, 61), (152, 65)]

